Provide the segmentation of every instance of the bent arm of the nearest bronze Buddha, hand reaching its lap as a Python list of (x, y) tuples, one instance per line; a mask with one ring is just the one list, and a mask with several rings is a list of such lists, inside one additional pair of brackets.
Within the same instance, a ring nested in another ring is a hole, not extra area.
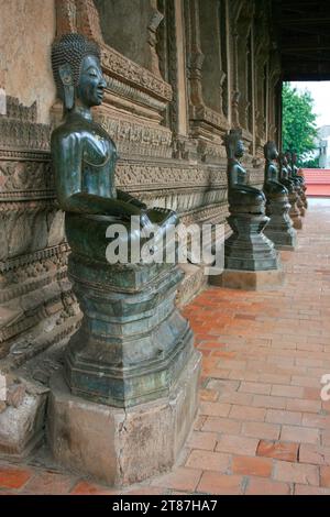
[(57, 199), (64, 211), (122, 218), (142, 216), (143, 226), (150, 223), (142, 207), (127, 202), (124, 199), (103, 198), (82, 191), (82, 145), (79, 135), (73, 133), (59, 139), (53, 138), (52, 157)]

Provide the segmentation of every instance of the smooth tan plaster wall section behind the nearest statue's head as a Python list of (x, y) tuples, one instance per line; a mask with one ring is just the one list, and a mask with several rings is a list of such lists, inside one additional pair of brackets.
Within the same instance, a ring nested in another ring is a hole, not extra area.
[(36, 101), (38, 122), (48, 123), (55, 97), (50, 63), (55, 0), (0, 0), (0, 86), (25, 106)]

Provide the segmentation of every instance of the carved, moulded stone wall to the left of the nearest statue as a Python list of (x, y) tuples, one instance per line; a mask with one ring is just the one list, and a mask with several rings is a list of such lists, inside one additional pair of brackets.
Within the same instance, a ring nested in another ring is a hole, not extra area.
[(63, 340), (79, 318), (66, 279), (67, 244), (56, 208), (50, 125), (7, 97), (0, 116), (1, 371)]

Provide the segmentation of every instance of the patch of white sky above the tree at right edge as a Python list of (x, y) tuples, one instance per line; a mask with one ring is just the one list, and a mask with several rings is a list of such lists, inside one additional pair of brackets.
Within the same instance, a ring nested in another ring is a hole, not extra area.
[(315, 100), (314, 112), (318, 116), (317, 127), (330, 125), (330, 81), (292, 82), (297, 90), (309, 90)]

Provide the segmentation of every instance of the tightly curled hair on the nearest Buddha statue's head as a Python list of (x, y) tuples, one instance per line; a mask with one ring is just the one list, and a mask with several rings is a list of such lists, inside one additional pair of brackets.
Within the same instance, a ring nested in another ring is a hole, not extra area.
[(70, 65), (74, 74), (74, 85), (77, 86), (84, 57), (95, 56), (100, 59), (100, 50), (97, 43), (82, 34), (65, 34), (52, 45), (52, 68), (57, 92), (63, 98), (63, 84), (59, 77), (59, 67)]

